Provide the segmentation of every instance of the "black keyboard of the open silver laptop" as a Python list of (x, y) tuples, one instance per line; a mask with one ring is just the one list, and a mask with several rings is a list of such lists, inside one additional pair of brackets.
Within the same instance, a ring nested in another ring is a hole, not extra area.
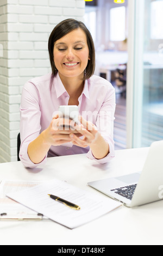
[(116, 194), (119, 194), (122, 197), (126, 197), (127, 199), (131, 200), (134, 196), (135, 188), (137, 184), (126, 186), (126, 187), (120, 187), (120, 188), (115, 188), (114, 191)]

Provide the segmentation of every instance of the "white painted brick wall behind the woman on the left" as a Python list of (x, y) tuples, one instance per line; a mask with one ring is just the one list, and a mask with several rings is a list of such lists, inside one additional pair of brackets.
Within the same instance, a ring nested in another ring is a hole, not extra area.
[(0, 162), (17, 161), (22, 87), (51, 71), (49, 34), (84, 13), (84, 0), (0, 0)]

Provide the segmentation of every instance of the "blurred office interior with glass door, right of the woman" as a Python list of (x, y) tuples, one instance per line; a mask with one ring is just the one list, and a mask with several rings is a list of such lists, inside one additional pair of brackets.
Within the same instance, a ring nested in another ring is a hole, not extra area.
[(163, 139), (162, 10), (161, 0), (86, 3), (96, 74), (116, 89), (116, 149)]

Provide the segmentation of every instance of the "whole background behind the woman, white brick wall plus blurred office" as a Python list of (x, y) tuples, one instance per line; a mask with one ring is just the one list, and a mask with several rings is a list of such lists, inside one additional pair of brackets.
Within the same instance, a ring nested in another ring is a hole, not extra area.
[(163, 0), (1, 0), (0, 162), (17, 160), (24, 83), (51, 71), (47, 41), (72, 17), (90, 29), (95, 74), (116, 90), (115, 148), (163, 139)]

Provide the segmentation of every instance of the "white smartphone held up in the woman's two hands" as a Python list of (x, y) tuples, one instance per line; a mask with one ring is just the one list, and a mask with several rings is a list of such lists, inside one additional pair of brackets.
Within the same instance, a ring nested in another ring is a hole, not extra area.
[(79, 117), (79, 109), (76, 105), (70, 106), (60, 106), (59, 109), (59, 117), (68, 118), (73, 120), (75, 123), (78, 124), (78, 117)]

